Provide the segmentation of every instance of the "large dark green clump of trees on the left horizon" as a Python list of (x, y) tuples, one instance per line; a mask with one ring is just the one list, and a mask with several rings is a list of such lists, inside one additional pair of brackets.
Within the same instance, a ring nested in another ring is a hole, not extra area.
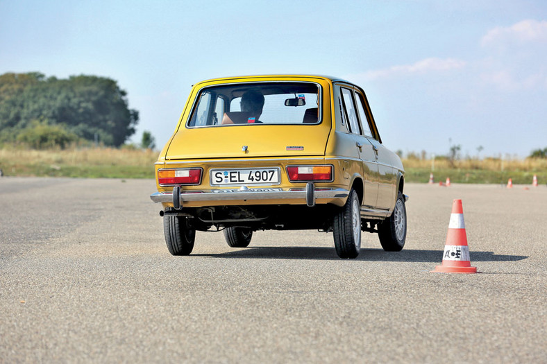
[(9, 141), (33, 120), (63, 125), (90, 141), (120, 146), (135, 133), (137, 110), (128, 108), (127, 93), (115, 80), (98, 76), (45, 78), (42, 73), (0, 76), (0, 140)]

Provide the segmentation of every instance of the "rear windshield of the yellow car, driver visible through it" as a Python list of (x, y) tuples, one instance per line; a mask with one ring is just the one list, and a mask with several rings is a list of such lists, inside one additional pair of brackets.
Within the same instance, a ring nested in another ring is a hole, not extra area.
[(302, 125), (321, 121), (316, 83), (237, 83), (202, 89), (187, 126)]

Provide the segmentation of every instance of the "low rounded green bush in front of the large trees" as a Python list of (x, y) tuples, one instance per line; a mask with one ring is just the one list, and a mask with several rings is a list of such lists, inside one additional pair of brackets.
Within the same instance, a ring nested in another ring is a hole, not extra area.
[(22, 130), (17, 135), (17, 141), (35, 149), (65, 149), (77, 140), (78, 137), (62, 125), (47, 125), (40, 122), (33, 123), (33, 126)]

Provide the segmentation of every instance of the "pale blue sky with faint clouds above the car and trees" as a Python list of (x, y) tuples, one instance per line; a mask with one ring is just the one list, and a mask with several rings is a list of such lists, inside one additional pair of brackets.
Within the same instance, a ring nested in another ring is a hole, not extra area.
[(547, 147), (547, 1), (0, 0), (0, 74), (112, 78), (161, 148), (201, 80), (336, 76), (403, 153)]

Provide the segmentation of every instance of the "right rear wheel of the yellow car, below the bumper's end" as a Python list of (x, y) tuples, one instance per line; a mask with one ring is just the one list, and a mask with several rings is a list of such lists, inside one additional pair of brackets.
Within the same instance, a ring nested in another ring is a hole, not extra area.
[(346, 205), (335, 215), (333, 224), (336, 254), (342, 259), (353, 259), (361, 250), (361, 204), (352, 189)]

